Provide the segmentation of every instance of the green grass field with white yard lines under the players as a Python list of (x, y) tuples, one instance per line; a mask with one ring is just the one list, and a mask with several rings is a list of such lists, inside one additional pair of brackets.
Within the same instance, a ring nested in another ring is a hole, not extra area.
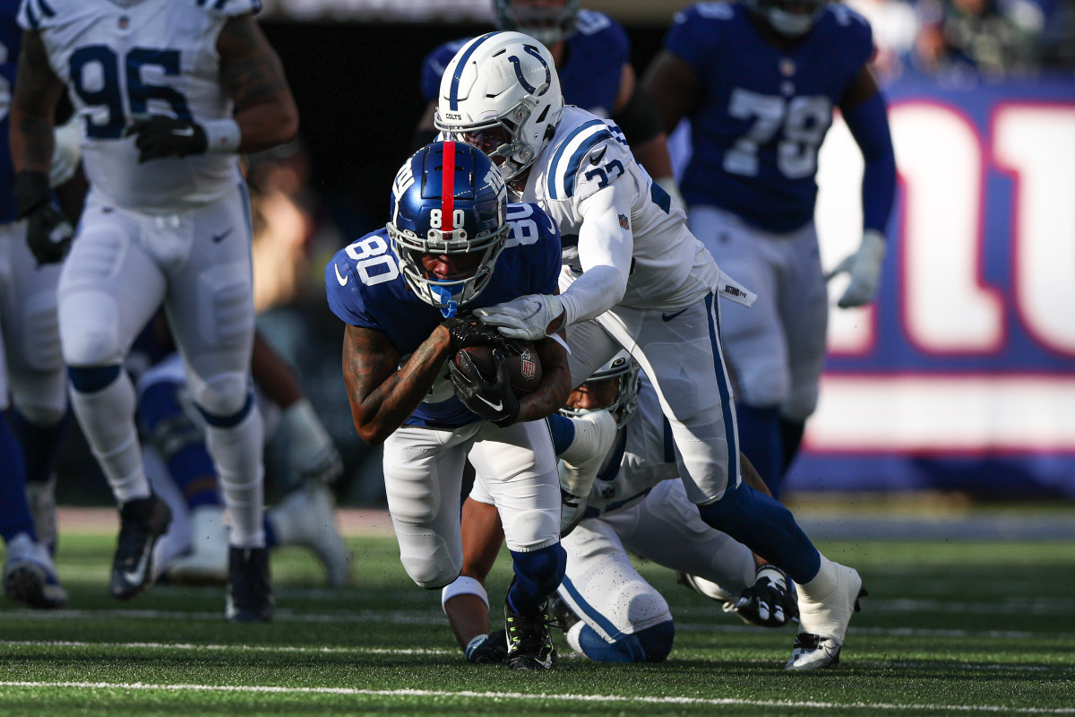
[[(223, 588), (108, 596), (111, 534), (64, 533), (58, 613), (0, 603), (0, 715), (952, 715), (1075, 714), (1075, 545), (829, 542), (870, 597), (842, 664), (786, 674), (792, 630), (723, 615), (651, 564), (675, 648), (656, 665), (570, 654), (549, 674), (473, 666), (440, 596), (415, 587), (391, 536), (354, 537), (355, 587), (319, 587), (298, 550), (274, 555), (270, 625), (223, 619)], [(501, 560), (493, 604), (508, 580)]]

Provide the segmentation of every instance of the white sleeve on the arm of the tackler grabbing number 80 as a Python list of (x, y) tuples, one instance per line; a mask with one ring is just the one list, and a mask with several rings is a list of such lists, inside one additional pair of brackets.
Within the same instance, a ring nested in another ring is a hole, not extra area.
[(619, 217), (631, 216), (635, 193), (634, 181), (625, 175), (579, 204), (584, 216), (578, 230), (583, 275), (560, 296), (563, 326), (594, 318), (624, 298), (634, 240), (630, 228), (624, 228)]

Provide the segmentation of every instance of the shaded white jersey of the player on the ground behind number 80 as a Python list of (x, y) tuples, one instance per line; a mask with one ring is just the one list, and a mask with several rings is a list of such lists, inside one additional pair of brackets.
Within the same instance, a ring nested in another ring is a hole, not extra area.
[(610, 456), (614, 463), (602, 465), (593, 481), (587, 501), (587, 507), (591, 508), (587, 511), (588, 517), (633, 505), (657, 484), (679, 477), (672, 429), (661, 413), (657, 391), (645, 375), (639, 390), (637, 411)]

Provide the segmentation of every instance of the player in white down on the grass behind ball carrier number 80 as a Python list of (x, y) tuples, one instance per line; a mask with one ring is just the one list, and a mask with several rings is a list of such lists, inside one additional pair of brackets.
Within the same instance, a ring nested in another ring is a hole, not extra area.
[[(669, 448), (668, 420), (627, 352), (575, 388), (562, 415), (549, 416), (561, 459), (579, 461), (571, 455), (577, 450), (572, 445), (575, 428), (608, 413), (617, 431), (591, 458), (597, 479), (584, 519), (562, 537), (568, 569), (555, 615), (568, 643), (601, 662), (660, 662), (668, 657), (675, 635), (668, 603), (637, 573), (629, 551), (690, 576), (684, 579), (718, 584), (728, 601), (726, 611), (749, 622), (790, 622), (798, 610), (787, 576), (702, 522), (687, 499)], [(746, 478), (763, 487), (748, 464), (744, 469)], [(462, 530), (463, 571), (442, 592), (444, 612), (468, 660), (499, 662), (505, 650), (503, 634), (485, 634), (485, 579), (500, 548), (500, 524), (481, 485), (463, 506)]]

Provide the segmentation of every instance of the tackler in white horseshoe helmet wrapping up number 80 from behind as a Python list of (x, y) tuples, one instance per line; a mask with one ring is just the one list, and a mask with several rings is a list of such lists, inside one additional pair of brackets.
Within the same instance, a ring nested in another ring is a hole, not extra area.
[(553, 59), (532, 38), (491, 32), (463, 45), (441, 81), (435, 121), (446, 137), (482, 147), (514, 197), (577, 236), (559, 296), (525, 296), (475, 314), (510, 338), (567, 328), (574, 385), (628, 349), (660, 397), (679, 475), (702, 519), (800, 586), (802, 632), (785, 666), (834, 664), (862, 580), (820, 555), (791, 513), (740, 473), (717, 298), (749, 292), (721, 275), (619, 129), (563, 106)]

